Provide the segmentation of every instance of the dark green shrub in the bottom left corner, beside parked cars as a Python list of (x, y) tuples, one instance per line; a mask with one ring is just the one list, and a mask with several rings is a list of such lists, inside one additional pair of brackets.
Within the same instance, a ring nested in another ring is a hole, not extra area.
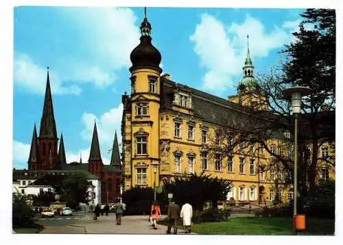
[(31, 227), (34, 225), (34, 211), (27, 204), (27, 196), (13, 193), (12, 196), (12, 227)]

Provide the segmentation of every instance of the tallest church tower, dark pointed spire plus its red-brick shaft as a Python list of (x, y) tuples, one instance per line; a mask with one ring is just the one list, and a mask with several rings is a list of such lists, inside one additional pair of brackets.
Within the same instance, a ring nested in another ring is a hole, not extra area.
[[(52, 105), (52, 96), (50, 89), (49, 67), (47, 68), (47, 86), (45, 88), (45, 98), (43, 106), (43, 114), (40, 120), (39, 130), (39, 151), (42, 165), (39, 169), (50, 169), (58, 160), (57, 152), (57, 131), (54, 117), (54, 107)], [(51, 161), (49, 161), (49, 153), (51, 151)]]

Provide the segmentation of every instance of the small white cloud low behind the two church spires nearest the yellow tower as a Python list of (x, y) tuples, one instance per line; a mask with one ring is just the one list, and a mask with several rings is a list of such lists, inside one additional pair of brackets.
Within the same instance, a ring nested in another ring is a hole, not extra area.
[(84, 123), (84, 130), (81, 136), (84, 140), (91, 142), (94, 129), (94, 120), (97, 123), (97, 135), (99, 137), (99, 144), (102, 146), (102, 155), (107, 154), (108, 149), (113, 146), (113, 139), (115, 137), (115, 130), (117, 130), (117, 138), (120, 143), (121, 140), (121, 116), (123, 114), (123, 105), (104, 112), (100, 116), (84, 112), (82, 115), (82, 123)]

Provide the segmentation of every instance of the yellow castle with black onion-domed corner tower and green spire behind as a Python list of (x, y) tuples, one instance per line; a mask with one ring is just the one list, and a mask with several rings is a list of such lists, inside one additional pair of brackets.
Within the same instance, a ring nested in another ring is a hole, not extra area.
[[(141, 42), (130, 54), (131, 94), (122, 96), (123, 190), (153, 187), (154, 183), (162, 185), (164, 178), (204, 172), (232, 181), (227, 200), (268, 203), (276, 192), (286, 201), (292, 200), (291, 188), (275, 190), (280, 171), (259, 171), (272, 161), (267, 151), (256, 151), (259, 146), (240, 146), (241, 151), (226, 156), (207, 148), (210, 142), (220, 144), (216, 134), (224, 120), (229, 118), (237, 125), (249, 120), (244, 106), (267, 106), (256, 99), (259, 91), (249, 46), (238, 93), (222, 99), (162, 75), (161, 53), (152, 45), (146, 13), (140, 29)], [(288, 134), (286, 131), (286, 138), (290, 138)], [(274, 149), (279, 146), (279, 140), (269, 143)]]

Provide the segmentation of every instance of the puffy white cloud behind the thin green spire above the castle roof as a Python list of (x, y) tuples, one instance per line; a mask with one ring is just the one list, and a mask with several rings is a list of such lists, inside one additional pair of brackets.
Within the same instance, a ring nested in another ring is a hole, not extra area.
[(295, 25), (296, 21), (287, 21), (281, 27), (274, 25), (265, 31), (259, 20), (247, 14), (244, 23), (233, 22), (226, 27), (214, 16), (203, 14), (190, 40), (194, 42), (193, 50), (200, 58), (200, 66), (207, 70), (203, 77), (204, 89), (225, 91), (233, 87), (246, 57), (247, 34), (253, 62), (254, 57), (266, 57), (272, 49), (289, 42)]

